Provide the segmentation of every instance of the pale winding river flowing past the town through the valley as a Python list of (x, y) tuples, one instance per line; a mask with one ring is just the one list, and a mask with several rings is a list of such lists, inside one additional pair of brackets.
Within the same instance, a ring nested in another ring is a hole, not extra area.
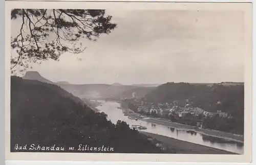
[(135, 121), (128, 119), (128, 116), (124, 116), (119, 103), (116, 102), (104, 102), (101, 101), (101, 105), (96, 108), (104, 112), (108, 115), (108, 119), (112, 121), (112, 123), (116, 124), (118, 120), (124, 121), (127, 124), (131, 125), (141, 125), (147, 127), (145, 132), (155, 133), (159, 135), (164, 135), (168, 137), (173, 137), (179, 140), (184, 140), (186, 142), (199, 144), (203, 146), (208, 146), (212, 148), (222, 149), (229, 152), (234, 152), (238, 154), (244, 153), (243, 144), (239, 144), (236, 142), (226, 141), (221, 138), (203, 135), (201, 133), (197, 133), (195, 131), (189, 131), (185, 129), (177, 129), (172, 128), (160, 124), (145, 122), (145, 121)]

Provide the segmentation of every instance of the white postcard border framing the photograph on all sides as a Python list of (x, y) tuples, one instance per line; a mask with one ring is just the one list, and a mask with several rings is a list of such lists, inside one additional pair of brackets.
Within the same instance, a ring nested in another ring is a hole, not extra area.
[[(83, 7), (84, 6), (84, 7)], [(10, 153), (10, 11), (13, 8), (87, 8), (118, 10), (242, 10), (245, 13), (245, 142), (244, 155), (116, 154), (116, 153)], [(128, 161), (128, 162), (250, 162), (252, 146), (252, 11), (249, 3), (107, 3), (6, 2), (5, 137), (6, 160)], [(185, 157), (185, 158), (184, 158)]]

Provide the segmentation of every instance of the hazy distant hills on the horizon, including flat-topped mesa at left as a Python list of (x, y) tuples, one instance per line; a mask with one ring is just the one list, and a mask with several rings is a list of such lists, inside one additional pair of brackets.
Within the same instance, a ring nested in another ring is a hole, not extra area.
[(36, 71), (28, 71), (23, 79), (37, 80), (44, 83), (55, 84), (65, 89), (74, 96), (81, 98), (131, 98), (144, 97), (148, 92), (151, 92), (154, 87), (141, 87), (123, 85), (120, 83), (113, 84), (70, 84), (67, 81), (52, 82), (42, 77)]

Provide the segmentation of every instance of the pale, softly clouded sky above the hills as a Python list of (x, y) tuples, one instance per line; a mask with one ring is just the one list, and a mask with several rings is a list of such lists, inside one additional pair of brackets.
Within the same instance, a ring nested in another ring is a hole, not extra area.
[[(87, 50), (32, 70), (51, 81), (72, 84), (115, 82), (244, 82), (244, 18), (238, 11), (106, 11), (117, 28)], [(12, 35), (21, 22), (12, 21)], [(77, 58), (82, 58), (81, 61)]]

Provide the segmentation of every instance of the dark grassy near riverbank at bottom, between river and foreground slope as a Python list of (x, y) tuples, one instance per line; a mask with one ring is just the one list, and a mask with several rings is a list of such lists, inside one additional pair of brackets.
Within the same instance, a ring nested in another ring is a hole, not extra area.
[(166, 148), (172, 148), (177, 154), (236, 154), (233, 152), (185, 142), (172, 137), (140, 131), (140, 133), (159, 140)]

